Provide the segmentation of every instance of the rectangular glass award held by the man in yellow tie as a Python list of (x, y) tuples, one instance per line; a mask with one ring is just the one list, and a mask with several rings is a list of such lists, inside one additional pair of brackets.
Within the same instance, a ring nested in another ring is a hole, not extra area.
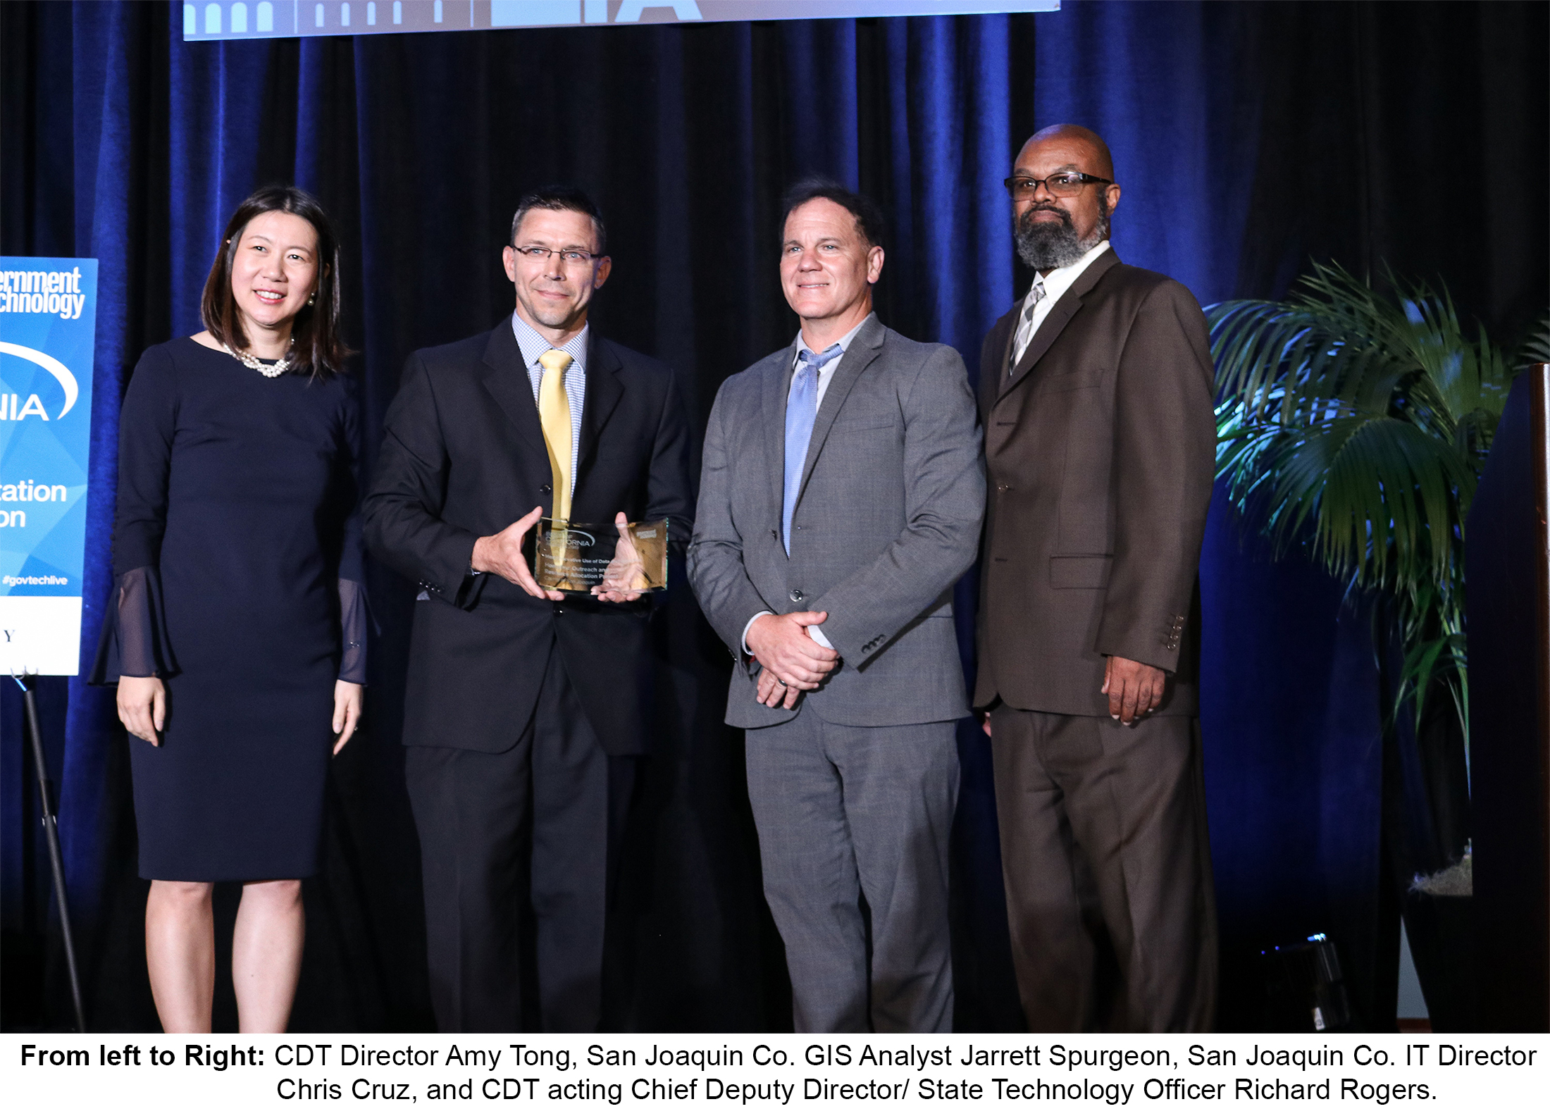
[(666, 589), (668, 521), (578, 524), (539, 519), (532, 564), (533, 580), (544, 589), (584, 594)]

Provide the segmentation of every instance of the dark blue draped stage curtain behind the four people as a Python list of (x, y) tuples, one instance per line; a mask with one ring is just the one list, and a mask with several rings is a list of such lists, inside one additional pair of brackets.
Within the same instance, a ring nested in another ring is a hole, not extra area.
[[(370, 467), (409, 350), (510, 313), (516, 197), (584, 186), (614, 277), (597, 326), (671, 363), (704, 423), (719, 383), (786, 344), (778, 198), (806, 172), (891, 226), (882, 318), (970, 364), (1021, 293), (1001, 178), (1035, 127), (1114, 152), (1114, 245), (1201, 302), (1279, 296), (1310, 257), (1442, 277), (1499, 336), (1547, 302), (1545, 6), (1073, 3), (1045, 16), (722, 23), (183, 43), (178, 5), (0, 5), (0, 248), (101, 260), (82, 646), (110, 589), (118, 406), (140, 350), (197, 332), (226, 215), (256, 184), (316, 192), (343, 231)], [(293, 1026), (431, 1025), (418, 854), (397, 739), (412, 592), (367, 572), (383, 636), (364, 735), (335, 761)], [(1392, 1026), (1381, 901), (1383, 747), (1367, 618), (1217, 507), (1201, 567), (1203, 716), (1226, 981), (1257, 1026), (1257, 952), (1336, 939), (1359, 1021)], [(972, 671), (973, 580), (959, 587)], [(725, 653), (680, 572), (657, 615), (657, 732), (609, 964), (609, 1020), (780, 1029)], [(46, 871), (17, 694), (0, 702), (5, 1026), (62, 1021), (17, 981), (42, 956)], [(42, 687), (99, 1029), (153, 1029), (113, 694)], [(959, 733), (958, 1025), (1018, 1026), (989, 753)], [(220, 897), (229, 924), (232, 894)], [(31, 953), (28, 953), (31, 950)], [(229, 1000), (219, 1020), (231, 1021)]]

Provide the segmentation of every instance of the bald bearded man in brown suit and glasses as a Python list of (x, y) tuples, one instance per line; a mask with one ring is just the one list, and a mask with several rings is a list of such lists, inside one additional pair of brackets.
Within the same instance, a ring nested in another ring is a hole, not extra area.
[(1006, 180), (1037, 276), (980, 361), (973, 704), (1029, 1029), (1201, 1031), (1217, 992), (1194, 732), (1212, 364), (1194, 296), (1108, 246), (1113, 178), (1104, 141), (1060, 124)]

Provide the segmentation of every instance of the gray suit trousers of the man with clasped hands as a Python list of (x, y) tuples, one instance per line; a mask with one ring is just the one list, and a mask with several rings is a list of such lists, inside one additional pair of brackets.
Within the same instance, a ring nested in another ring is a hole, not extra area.
[(797, 1031), (952, 1031), (953, 724), (837, 725), (801, 708), (749, 730), (749, 801)]

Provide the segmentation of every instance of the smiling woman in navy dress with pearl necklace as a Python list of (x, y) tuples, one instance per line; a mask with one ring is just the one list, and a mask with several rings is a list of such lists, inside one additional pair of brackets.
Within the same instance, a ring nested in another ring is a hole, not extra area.
[(119, 418), (116, 581), (93, 680), (118, 682), (133, 736), (146, 961), (169, 1032), (211, 1029), (217, 880), (243, 884), (240, 1028), (285, 1029), (330, 746), (361, 715), (338, 273), (318, 202), (257, 191), (211, 267), (206, 330), (146, 350)]

